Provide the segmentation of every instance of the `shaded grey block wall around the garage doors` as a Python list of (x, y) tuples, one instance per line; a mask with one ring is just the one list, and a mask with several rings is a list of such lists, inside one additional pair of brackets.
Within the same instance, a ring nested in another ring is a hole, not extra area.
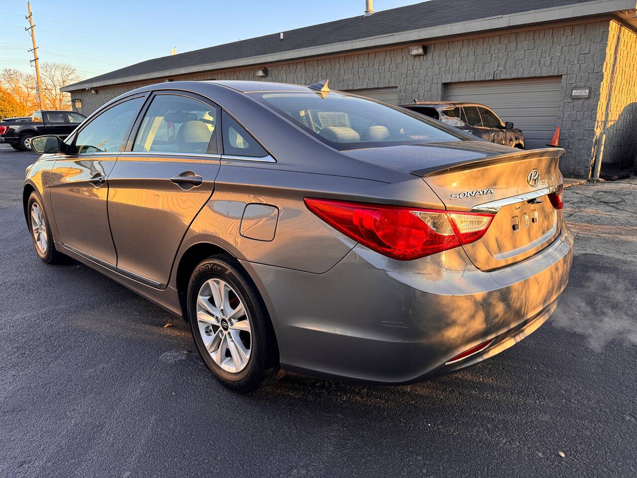
[[(320, 59), (273, 64), (265, 80), (310, 84), (329, 78), (334, 89), (397, 87), (399, 100), (441, 99), (443, 83), (562, 76), (560, 145), (566, 149), (565, 176), (588, 177), (598, 120), (599, 86), (609, 31), (608, 20), (490, 34), (468, 40), (428, 44), (427, 55), (412, 57), (407, 47), (359, 52)], [(427, 42), (425, 42), (427, 43)], [(259, 66), (260, 67), (260, 66)], [(175, 80), (256, 80), (259, 68), (213, 71), (173, 77)], [(82, 112), (93, 112), (111, 98), (145, 83), (78, 91)], [(589, 86), (589, 99), (571, 99), (572, 87)], [(557, 126), (556, 125), (556, 126)]]

